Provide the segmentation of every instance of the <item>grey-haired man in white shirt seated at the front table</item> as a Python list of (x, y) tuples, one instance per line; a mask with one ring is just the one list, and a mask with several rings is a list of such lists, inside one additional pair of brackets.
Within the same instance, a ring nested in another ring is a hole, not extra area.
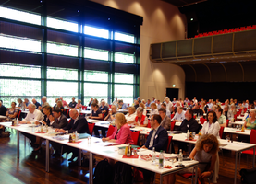
[[(23, 121), (19, 121), (20, 124), (39, 124), (37, 121), (43, 121), (43, 114), (40, 110), (36, 109), (36, 106), (34, 104), (31, 104), (28, 106), (29, 113), (27, 114), (26, 118)], [(28, 137), (30, 139), (30, 144), (32, 147), (34, 147), (34, 143), (36, 141), (36, 136), (31, 135), (30, 133), (21, 132), (24, 136)]]

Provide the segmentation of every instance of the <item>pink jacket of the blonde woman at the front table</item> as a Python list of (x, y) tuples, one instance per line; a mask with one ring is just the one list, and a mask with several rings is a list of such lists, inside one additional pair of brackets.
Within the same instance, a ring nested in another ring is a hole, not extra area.
[[(116, 132), (117, 132), (117, 127), (115, 127), (113, 134), (110, 135), (108, 138), (115, 139)], [(117, 144), (128, 144), (128, 143), (134, 144), (133, 139), (131, 138), (128, 124), (125, 124), (120, 128), (120, 131), (118, 132), (116, 138), (117, 138), (116, 140)]]

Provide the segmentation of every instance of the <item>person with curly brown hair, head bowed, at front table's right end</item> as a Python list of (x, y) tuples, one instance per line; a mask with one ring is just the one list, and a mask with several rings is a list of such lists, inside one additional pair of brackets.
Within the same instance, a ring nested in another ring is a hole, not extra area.
[[(213, 134), (205, 134), (197, 141), (195, 148), (190, 153), (189, 158), (200, 162), (198, 165), (198, 178), (201, 183), (203, 179), (212, 177), (212, 182), (216, 183), (218, 176), (218, 150), (219, 142)], [(208, 167), (210, 165), (210, 167)], [(182, 170), (180, 173), (193, 173), (193, 167)], [(175, 174), (170, 174), (166, 183), (174, 184)]]

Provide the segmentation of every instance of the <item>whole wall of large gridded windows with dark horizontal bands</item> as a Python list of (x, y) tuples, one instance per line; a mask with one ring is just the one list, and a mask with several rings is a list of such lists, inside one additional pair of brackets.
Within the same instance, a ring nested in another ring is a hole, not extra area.
[(43, 1), (20, 4), (21, 10), (11, 2), (0, 5), (0, 99), (6, 107), (18, 98), (42, 103), (42, 96), (51, 106), (59, 97), (84, 105), (90, 98), (111, 103), (115, 97), (132, 104), (140, 61), (140, 26), (134, 25), (141, 17), (133, 23), (134, 15), (122, 12), (113, 21), (116, 10), (103, 12), (93, 2), (93, 11), (86, 11), (91, 5)]

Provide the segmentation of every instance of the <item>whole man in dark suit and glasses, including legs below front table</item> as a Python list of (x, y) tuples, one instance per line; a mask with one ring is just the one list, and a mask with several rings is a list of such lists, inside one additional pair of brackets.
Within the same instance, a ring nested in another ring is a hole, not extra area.
[[(155, 148), (155, 151), (165, 150), (168, 144), (168, 133), (164, 127), (160, 126), (162, 118), (160, 115), (153, 115), (151, 117), (151, 126), (152, 131), (150, 132), (147, 142), (142, 146), (144, 149), (152, 150)], [(140, 169), (143, 172), (144, 184), (153, 183), (154, 173), (145, 169)]]

